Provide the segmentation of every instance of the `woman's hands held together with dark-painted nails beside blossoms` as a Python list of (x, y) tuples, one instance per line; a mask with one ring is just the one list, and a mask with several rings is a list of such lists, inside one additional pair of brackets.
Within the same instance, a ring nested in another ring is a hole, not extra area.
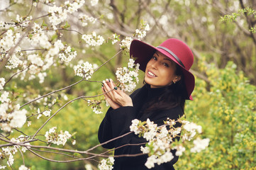
[(118, 89), (111, 79), (103, 81), (103, 85), (102, 91), (106, 93), (104, 96), (111, 108), (116, 109), (121, 106), (133, 106), (130, 96)]

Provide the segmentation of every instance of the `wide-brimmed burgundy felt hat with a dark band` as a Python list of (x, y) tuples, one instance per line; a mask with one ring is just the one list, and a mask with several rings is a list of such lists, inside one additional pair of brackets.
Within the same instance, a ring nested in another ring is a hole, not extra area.
[(135, 63), (140, 64), (140, 69), (143, 72), (145, 72), (149, 60), (156, 51), (166, 55), (182, 68), (188, 93), (187, 99), (193, 100), (191, 93), (194, 90), (195, 80), (189, 69), (194, 62), (194, 56), (190, 48), (184, 42), (175, 38), (165, 40), (157, 47), (148, 45), (140, 40), (133, 40), (130, 44), (130, 57), (135, 58)]

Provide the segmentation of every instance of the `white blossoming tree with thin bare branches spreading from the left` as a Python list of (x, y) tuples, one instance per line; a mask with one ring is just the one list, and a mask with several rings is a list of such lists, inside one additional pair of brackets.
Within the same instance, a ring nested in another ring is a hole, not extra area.
[[(100, 108), (101, 104), (104, 103), (104, 98), (99, 100), (94, 98), (103, 96), (103, 94), (82, 95), (69, 99), (63, 91), (80, 84), (82, 81), (101, 83), (101, 80), (92, 81), (91, 78), (113, 57), (120, 55), (121, 52), (128, 52), (130, 42), (133, 39), (144, 38), (150, 30), (149, 24), (141, 22), (138, 29), (131, 31), (133, 33), (123, 33), (123, 30), (116, 30), (116, 33), (108, 34), (100, 31), (96, 33), (93, 30), (95, 27), (91, 27), (91, 29), (87, 26), (96, 24), (97, 27), (108, 24), (100, 20), (101, 16), (90, 15), (89, 11), (97, 6), (97, 0), (33, 0), (30, 1), (29, 10), (25, 11), (26, 15), (24, 16), (15, 13), (15, 9), (25, 3), (24, 1), (5, 2), (6, 6), (1, 8), (1, 12), (4, 12), (2, 15), (9, 16), (12, 19), (6, 20), (9, 19), (6, 17), (0, 21), (0, 157), (3, 159), (0, 169), (6, 169), (8, 166), (12, 168), (15, 162), (14, 155), (21, 154), (23, 157), (24, 152), (30, 152), (35, 157), (50, 162), (77, 162), (91, 159), (97, 161), (97, 157), (109, 157), (109, 151), (100, 154), (93, 152), (95, 148), (101, 145), (96, 145), (87, 150), (58, 147), (58, 145), (65, 146), (67, 140), (71, 140), (72, 145), (76, 145), (76, 140), (74, 140), (72, 132), (57, 130), (52, 120), (54, 120), (55, 115), (61, 114), (62, 109), (69, 103), (77, 100), (86, 101), (94, 113), (102, 113)], [(110, 1), (110, 3), (114, 7), (113, 1)], [(67, 33), (63, 33), (65, 31)], [(73, 38), (74, 36), (77, 36), (77, 38)], [(89, 61), (75, 60), (79, 57), (79, 54), (84, 55), (86, 53), (85, 48), (99, 50), (98, 47), (106, 43), (118, 44), (116, 46), (119, 52), (100, 65)], [(77, 45), (82, 45), (82, 47), (77, 47)], [(73, 69), (74, 77), (79, 77), (79, 81), (68, 84), (68, 86), (61, 89), (51, 89), (51, 85), (48, 84), (47, 86), (44, 82), (45, 79), (48, 79), (50, 72), (55, 72), (56, 67)], [(102, 77), (102, 79), (106, 79), (106, 77)], [(116, 70), (116, 79), (118, 87), (123, 91), (133, 91), (136, 84), (138, 84), (138, 64), (135, 65), (134, 60), (130, 59), (127, 67)], [(35, 86), (34, 89), (30, 89), (27, 86), (27, 91), (26, 89), (19, 91), (16, 81), (36, 81), (39, 84), (44, 84), (45, 88), (36, 89)], [(67, 102), (59, 106), (57, 103), (60, 100)], [(55, 106), (59, 108), (56, 109)], [(30, 127), (40, 118), (45, 117), (47, 120), (43, 121), (40, 128), (33, 132), (33, 135), (28, 135), (26, 131), (21, 130), (25, 125)], [(182, 123), (181, 128), (174, 128), (177, 122)], [(48, 129), (42, 138), (40, 132), (45, 128), (45, 125), (50, 123), (52, 123), (52, 128)], [(182, 129), (182, 136), (180, 136), (182, 141), (175, 142), (174, 138), (179, 135)], [(201, 126), (190, 123), (184, 118), (176, 122), (166, 120), (165, 125), (161, 127), (157, 127), (150, 120), (146, 122), (133, 120), (129, 133), (131, 132), (135, 132), (135, 134), (148, 140), (145, 147), (141, 147), (141, 154), (149, 155), (145, 164), (149, 169), (154, 167), (155, 164), (172, 160), (171, 149), (177, 149), (176, 155), (179, 156), (182, 155), (186, 147), (190, 148), (191, 152), (200, 152), (201, 149), (208, 146), (209, 142), (208, 139), (201, 140), (200, 137), (197, 137), (202, 132)], [(187, 145), (187, 142), (192, 140), (194, 140), (194, 145)], [(44, 157), (43, 152), (62, 154), (67, 158), (65, 160), (51, 159)], [(78, 157), (75, 154), (84, 156)], [(29, 167), (26, 167), (25, 159), (26, 157), (23, 157), (23, 164), (19, 166), (19, 169), (29, 169)], [(99, 162), (99, 169), (111, 169), (112, 164), (114, 164), (113, 157), (103, 159)]]

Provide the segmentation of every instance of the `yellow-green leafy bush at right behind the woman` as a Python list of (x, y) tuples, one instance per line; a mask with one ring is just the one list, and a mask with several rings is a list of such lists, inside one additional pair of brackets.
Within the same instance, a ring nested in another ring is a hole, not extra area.
[(203, 127), (209, 147), (198, 154), (186, 152), (177, 169), (256, 168), (256, 87), (248, 83), (233, 62), (224, 69), (199, 63), (208, 82), (196, 79), (194, 101), (187, 102), (187, 119)]

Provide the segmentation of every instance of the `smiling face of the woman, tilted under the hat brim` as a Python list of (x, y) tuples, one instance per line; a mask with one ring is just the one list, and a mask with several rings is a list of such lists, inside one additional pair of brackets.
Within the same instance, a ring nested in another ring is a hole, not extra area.
[(169, 86), (181, 78), (175, 74), (176, 63), (161, 52), (155, 52), (145, 70), (145, 82), (151, 88)]

